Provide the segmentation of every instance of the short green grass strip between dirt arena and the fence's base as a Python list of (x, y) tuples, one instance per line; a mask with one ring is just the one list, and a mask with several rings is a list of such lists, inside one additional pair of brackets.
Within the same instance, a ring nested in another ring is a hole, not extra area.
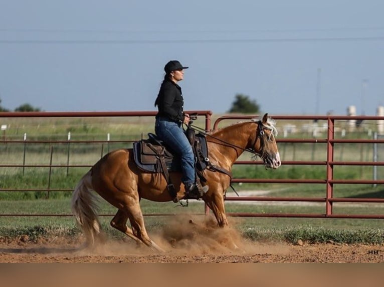
[[(204, 214), (204, 204), (191, 200), (188, 207), (180, 207), (172, 202), (152, 202), (142, 200), (144, 220), (149, 233), (166, 226), (169, 216), (189, 214), (192, 217), (201, 217)], [(227, 203), (227, 212), (324, 212), (323, 207), (313, 206), (282, 206), (263, 204), (235, 204)], [(0, 216), (0, 236), (20, 237), (28, 235), (29, 240), (35, 241), (39, 236), (76, 237), (80, 229), (75, 219), (70, 215), (70, 199), (37, 199), (0, 201), (3, 214), (22, 213), (57, 214), (69, 216)], [(283, 210), (284, 209), (284, 210)], [(357, 209), (357, 210), (356, 210)], [(371, 209), (371, 210), (370, 210)], [(377, 207), (340, 207), (341, 212), (379, 212)], [(111, 226), (116, 209), (100, 201), (100, 220), (103, 230), (108, 236), (123, 238), (124, 235)], [(151, 214), (168, 214), (153, 216)], [(106, 215), (106, 216), (104, 216)], [(230, 225), (239, 230), (244, 237), (261, 241), (287, 241), (295, 243), (298, 239), (313, 242), (326, 242), (328, 240), (340, 243), (383, 243), (384, 231), (382, 219), (349, 219), (349, 218), (284, 218), (284, 217), (229, 217)]]

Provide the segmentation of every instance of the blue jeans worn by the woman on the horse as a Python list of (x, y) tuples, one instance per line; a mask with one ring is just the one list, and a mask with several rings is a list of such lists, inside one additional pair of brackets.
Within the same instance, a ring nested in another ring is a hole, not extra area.
[(181, 123), (167, 118), (156, 118), (155, 133), (181, 159), (182, 177), (184, 185), (195, 183), (195, 155)]

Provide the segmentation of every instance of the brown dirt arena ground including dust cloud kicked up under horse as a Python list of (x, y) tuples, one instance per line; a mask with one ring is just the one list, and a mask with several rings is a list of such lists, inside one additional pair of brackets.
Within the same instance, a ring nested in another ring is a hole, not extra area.
[(209, 222), (173, 222), (150, 235), (163, 253), (129, 238), (93, 250), (81, 248), (82, 238), (0, 238), (0, 262), (384, 262), (384, 245), (255, 242)]

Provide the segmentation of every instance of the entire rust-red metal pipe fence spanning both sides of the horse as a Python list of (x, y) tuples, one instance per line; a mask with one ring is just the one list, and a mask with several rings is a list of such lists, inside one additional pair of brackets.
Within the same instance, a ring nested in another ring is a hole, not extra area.
[[(200, 111), (188, 111), (190, 113), (197, 112), (199, 115), (205, 116), (205, 129), (211, 130), (211, 117), (212, 112), (209, 110), (200, 110)], [(11, 118), (11, 117), (18, 117), (18, 118), (30, 118), (30, 117), (147, 117), (151, 116), (153, 117), (156, 114), (154, 111), (137, 111), (137, 112), (128, 112), (128, 111), (121, 111), (121, 112), (0, 112), (0, 119), (2, 118)], [(217, 128), (219, 124), (223, 121), (233, 121), (233, 120), (241, 120), (241, 119), (248, 119), (252, 118), (254, 116), (234, 116), (234, 115), (226, 115), (221, 116), (216, 119), (213, 128)], [(266, 178), (234, 178), (233, 183), (240, 183), (240, 182), (254, 182), (254, 183), (300, 183), (300, 184), (324, 184), (324, 196), (323, 197), (272, 197), (272, 196), (227, 196), (227, 201), (302, 201), (302, 202), (320, 202), (324, 203), (324, 212), (323, 213), (228, 213), (231, 216), (244, 216), (244, 217), (324, 217), (324, 218), (384, 218), (384, 214), (334, 214), (333, 212), (333, 203), (334, 202), (361, 202), (361, 203), (378, 203), (381, 204), (382, 207), (384, 207), (384, 198), (346, 198), (346, 197), (335, 197), (333, 195), (333, 189), (335, 184), (384, 184), (384, 180), (372, 178), (370, 180), (368, 179), (334, 179), (333, 178), (333, 172), (334, 168), (336, 166), (341, 165), (355, 165), (355, 166), (382, 166), (384, 165), (384, 161), (381, 158), (380, 160), (334, 160), (335, 158), (335, 148), (334, 144), (345, 144), (345, 143), (359, 143), (361, 145), (366, 144), (384, 144), (384, 139), (366, 139), (366, 138), (337, 138), (335, 136), (336, 129), (337, 132), (340, 131), (340, 127), (335, 125), (335, 122), (342, 123), (340, 125), (343, 125), (344, 128), (350, 128), (355, 129), (356, 126), (358, 126), (357, 123), (361, 124), (362, 121), (373, 121), (374, 124), (377, 121), (383, 121), (384, 117), (378, 117), (378, 116), (300, 116), (300, 115), (272, 115), (272, 117), (276, 120), (287, 120), (287, 121), (312, 121), (316, 122), (316, 126), (318, 126), (317, 122), (324, 122), (323, 128), (326, 129), (325, 136), (323, 138), (320, 138), (319, 136), (312, 136), (312, 137), (305, 137), (305, 138), (295, 138), (294, 135), (291, 135), (290, 137), (277, 137), (278, 144), (287, 144), (292, 143), (292, 145), (298, 144), (298, 143), (311, 143), (313, 145), (322, 143), (323, 145), (326, 145), (326, 158), (324, 160), (282, 160), (282, 165), (323, 165), (326, 168), (326, 172), (324, 174), (324, 178), (322, 179), (291, 179), (291, 178), (283, 178), (283, 179), (266, 179)], [(374, 126), (375, 125), (370, 125)], [(280, 126), (278, 126), (278, 129), (281, 129)], [(279, 131), (281, 133), (281, 130)], [(33, 141), (33, 143), (38, 142), (44, 142), (44, 143), (65, 143), (67, 141), (51, 141), (51, 140), (40, 140), (40, 141)], [(94, 143), (94, 142), (114, 142), (114, 141), (104, 141), (104, 140), (71, 140), (71, 143)], [(115, 142), (121, 142), (121, 141), (115, 141)], [(29, 140), (9, 140), (6, 137), (3, 138), (3, 140), (0, 140), (0, 144), (12, 144), (12, 143), (32, 143), (32, 141)], [(280, 146), (279, 146), (280, 149)], [(281, 150), (280, 150), (281, 151)], [(254, 162), (250, 160), (238, 160), (235, 162), (235, 164), (260, 164), (260, 162)], [(87, 167), (91, 165), (80, 165), (80, 164), (69, 164), (67, 162), (67, 165), (64, 167), (72, 168), (72, 167)], [(55, 165), (52, 164), (52, 152), (51, 152), (51, 161), (50, 164), (39, 164), (39, 165), (31, 165), (31, 164), (3, 164), (0, 162), (0, 167), (46, 167), (50, 168), (50, 171), (53, 167), (63, 167), (63, 165)], [(23, 169), (24, 170), (24, 169)], [(275, 171), (276, 172), (276, 171)], [(51, 174), (51, 173), (50, 173)], [(51, 179), (50, 179), (51, 180)], [(50, 181), (49, 180), (49, 181)], [(0, 186), (2, 187), (2, 186)], [(0, 188), (1, 191), (47, 191), (49, 192), (59, 192), (59, 191), (72, 191), (69, 189), (53, 189), (48, 186), (48, 188), (44, 189), (36, 189), (31, 186), (31, 188), (28, 189), (12, 189), (12, 188)], [(384, 208), (383, 208), (384, 210)], [(384, 212), (383, 212), (384, 213)], [(0, 214), (0, 216), (24, 216), (26, 214)], [(44, 215), (50, 215), (50, 214), (35, 214), (39, 216)], [(70, 214), (68, 214), (69, 216)], [(159, 214), (157, 214), (159, 215)], [(27, 215), (28, 216), (28, 215)], [(55, 215), (57, 216), (57, 214)], [(63, 214), (63, 216), (66, 216), (66, 214)]]

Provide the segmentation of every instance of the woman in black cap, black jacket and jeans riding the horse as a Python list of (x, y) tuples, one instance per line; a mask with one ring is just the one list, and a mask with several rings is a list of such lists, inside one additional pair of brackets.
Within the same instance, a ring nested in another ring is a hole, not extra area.
[(202, 187), (196, 182), (194, 152), (181, 126), (182, 123), (188, 124), (189, 114), (183, 112), (184, 100), (177, 83), (184, 78), (186, 68), (177, 60), (164, 66), (164, 80), (155, 101), (158, 107), (155, 132), (181, 159), (181, 181), (187, 198), (199, 198), (208, 191), (208, 186)]

